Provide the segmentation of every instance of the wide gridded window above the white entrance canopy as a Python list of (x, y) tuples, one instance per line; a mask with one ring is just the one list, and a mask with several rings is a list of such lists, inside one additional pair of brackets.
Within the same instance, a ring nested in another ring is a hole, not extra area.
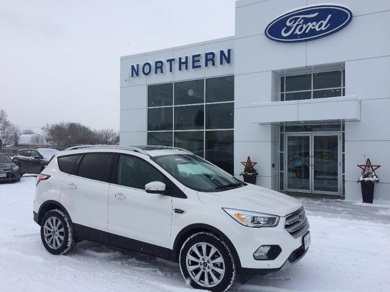
[(280, 78), (280, 101), (345, 95), (345, 70)]

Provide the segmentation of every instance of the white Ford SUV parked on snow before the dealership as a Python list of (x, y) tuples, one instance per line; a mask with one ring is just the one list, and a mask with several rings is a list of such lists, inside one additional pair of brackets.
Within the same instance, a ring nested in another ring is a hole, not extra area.
[(37, 177), (34, 220), (52, 254), (83, 239), (110, 244), (178, 261), (192, 287), (210, 291), (278, 271), (310, 244), (299, 201), (163, 146), (59, 152)]

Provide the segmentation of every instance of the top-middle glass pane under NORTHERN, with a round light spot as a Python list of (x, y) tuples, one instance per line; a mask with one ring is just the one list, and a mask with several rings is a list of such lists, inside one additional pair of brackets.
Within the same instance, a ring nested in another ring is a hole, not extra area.
[(175, 83), (175, 105), (204, 103), (204, 79)]

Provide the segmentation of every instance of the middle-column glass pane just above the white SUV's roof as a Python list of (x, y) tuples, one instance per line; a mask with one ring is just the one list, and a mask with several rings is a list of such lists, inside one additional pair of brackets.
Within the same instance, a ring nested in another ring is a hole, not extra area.
[(175, 147), (193, 152), (195, 155), (204, 155), (204, 131), (175, 132)]

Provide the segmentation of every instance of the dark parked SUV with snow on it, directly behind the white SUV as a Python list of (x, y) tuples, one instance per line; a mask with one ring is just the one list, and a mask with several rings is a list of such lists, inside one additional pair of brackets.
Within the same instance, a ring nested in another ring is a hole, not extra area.
[(57, 152), (57, 149), (51, 148), (21, 149), (18, 151), (18, 155), (14, 156), (13, 160), (20, 167), (21, 174), (38, 174), (49, 164), (50, 159)]

